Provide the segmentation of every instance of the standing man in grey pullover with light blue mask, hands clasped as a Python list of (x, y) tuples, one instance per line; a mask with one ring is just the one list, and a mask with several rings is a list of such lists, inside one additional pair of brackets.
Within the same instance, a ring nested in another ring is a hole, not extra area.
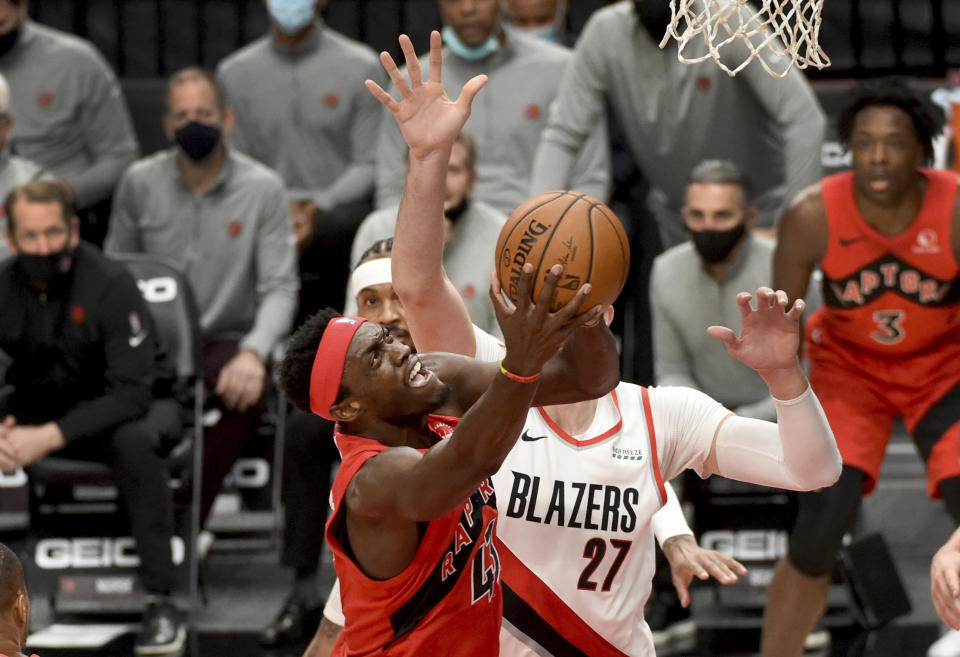
[(380, 108), (361, 82), (382, 80), (376, 53), (331, 29), (326, 0), (265, 0), (267, 34), (225, 58), (216, 78), (234, 108), (230, 143), (287, 187), (300, 252), (298, 319), (336, 298), (372, 203)]

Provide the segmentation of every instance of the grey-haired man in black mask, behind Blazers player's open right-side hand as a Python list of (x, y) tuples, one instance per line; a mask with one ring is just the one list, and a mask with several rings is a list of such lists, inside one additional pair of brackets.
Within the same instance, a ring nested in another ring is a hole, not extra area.
[(757, 209), (736, 164), (707, 160), (694, 167), (683, 219), (690, 239), (657, 256), (650, 276), (657, 385), (695, 388), (737, 415), (774, 421), (763, 380), (707, 335), (708, 326), (739, 321), (727, 299), (770, 284), (774, 243), (752, 230)]

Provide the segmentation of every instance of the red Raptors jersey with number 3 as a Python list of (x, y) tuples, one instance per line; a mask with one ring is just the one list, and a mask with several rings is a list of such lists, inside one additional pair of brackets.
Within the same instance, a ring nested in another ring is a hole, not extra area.
[(922, 169), (927, 192), (904, 232), (881, 235), (860, 215), (853, 172), (823, 179), (829, 241), (820, 263), (824, 307), (811, 319), (831, 339), (879, 356), (903, 356), (960, 334), (960, 266), (951, 227), (957, 176)]

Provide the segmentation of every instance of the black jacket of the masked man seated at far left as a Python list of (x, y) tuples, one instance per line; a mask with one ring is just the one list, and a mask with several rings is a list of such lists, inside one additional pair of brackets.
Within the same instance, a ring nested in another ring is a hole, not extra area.
[(158, 376), (153, 320), (127, 269), (81, 242), (68, 277), (41, 293), (17, 259), (0, 265), (0, 350), (12, 359), (2, 409), (54, 421), (64, 438), (143, 416)]

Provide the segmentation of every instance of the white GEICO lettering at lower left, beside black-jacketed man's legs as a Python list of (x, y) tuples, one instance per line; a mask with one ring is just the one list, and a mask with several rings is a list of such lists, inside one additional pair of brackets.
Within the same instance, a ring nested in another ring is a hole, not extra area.
[[(183, 563), (184, 543), (170, 540), (173, 563)], [(37, 541), (34, 561), (44, 570), (67, 568), (136, 568), (140, 565), (137, 544), (131, 536), (117, 538), (44, 538)]]

